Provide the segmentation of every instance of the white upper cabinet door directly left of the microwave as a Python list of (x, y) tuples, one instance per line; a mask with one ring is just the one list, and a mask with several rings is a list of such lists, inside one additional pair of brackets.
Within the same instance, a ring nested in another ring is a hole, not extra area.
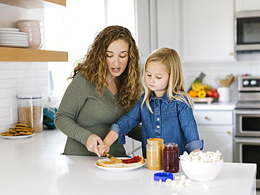
[(181, 1), (183, 62), (235, 61), (233, 0)]

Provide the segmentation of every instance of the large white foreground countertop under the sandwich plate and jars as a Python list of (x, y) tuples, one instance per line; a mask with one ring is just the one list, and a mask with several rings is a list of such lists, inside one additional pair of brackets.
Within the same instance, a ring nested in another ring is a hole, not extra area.
[[(146, 166), (112, 173), (94, 166), (98, 157), (65, 156), (66, 137), (59, 130), (44, 130), (34, 137), (8, 140), (0, 137), (0, 194), (255, 194), (256, 164), (223, 163), (218, 177), (191, 182), (178, 189), (155, 182)], [(182, 170), (174, 175), (183, 175)]]

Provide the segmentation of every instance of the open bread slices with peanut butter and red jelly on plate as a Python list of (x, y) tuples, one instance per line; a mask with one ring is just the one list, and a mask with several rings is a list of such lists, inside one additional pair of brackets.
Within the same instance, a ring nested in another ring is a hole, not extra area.
[(110, 159), (98, 159), (96, 162), (98, 166), (110, 167), (110, 168), (126, 168), (132, 166), (140, 166), (145, 163), (143, 156), (134, 156), (129, 159), (122, 159), (122, 163), (115, 163)]

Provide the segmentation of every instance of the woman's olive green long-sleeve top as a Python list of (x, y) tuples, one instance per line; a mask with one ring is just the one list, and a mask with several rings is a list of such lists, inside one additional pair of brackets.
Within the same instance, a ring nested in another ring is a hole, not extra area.
[[(56, 113), (55, 125), (67, 135), (64, 154), (96, 156), (86, 149), (89, 136), (96, 134), (104, 140), (112, 123), (126, 113), (118, 105), (119, 93), (113, 95), (108, 88), (102, 95), (96, 86), (79, 72), (67, 87)], [(129, 137), (141, 141), (141, 126), (128, 133)], [(110, 147), (113, 156), (127, 156), (124, 146), (114, 142)]]

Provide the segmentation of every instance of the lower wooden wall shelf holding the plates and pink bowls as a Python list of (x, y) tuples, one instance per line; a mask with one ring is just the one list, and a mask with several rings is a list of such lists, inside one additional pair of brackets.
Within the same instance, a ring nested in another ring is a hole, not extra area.
[(68, 53), (30, 48), (0, 47), (1, 62), (67, 62)]

